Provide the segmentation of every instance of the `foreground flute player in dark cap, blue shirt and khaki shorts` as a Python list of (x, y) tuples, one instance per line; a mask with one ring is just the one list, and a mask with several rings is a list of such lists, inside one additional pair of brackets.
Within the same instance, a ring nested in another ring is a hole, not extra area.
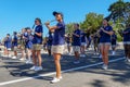
[(60, 12), (53, 12), (57, 24), (55, 26), (50, 26), (50, 22), (46, 23), (46, 26), (50, 32), (53, 32), (53, 41), (52, 41), (52, 53), (54, 57), (55, 67), (56, 67), (56, 77), (54, 77), (51, 83), (57, 83), (62, 79), (61, 75), (61, 55), (64, 51), (65, 45), (65, 23), (63, 18), (63, 14)]

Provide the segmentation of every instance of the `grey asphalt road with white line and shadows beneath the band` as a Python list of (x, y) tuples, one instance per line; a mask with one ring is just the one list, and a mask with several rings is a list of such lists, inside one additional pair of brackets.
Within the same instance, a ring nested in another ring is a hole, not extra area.
[(125, 62), (122, 50), (109, 55), (107, 71), (101, 69), (102, 60), (93, 51), (86, 54), (80, 64), (73, 63), (73, 55), (63, 55), (63, 79), (56, 84), (50, 84), (55, 76), (52, 57), (42, 54), (41, 72), (29, 71), (31, 64), (0, 57), (0, 87), (130, 87), (130, 63)]

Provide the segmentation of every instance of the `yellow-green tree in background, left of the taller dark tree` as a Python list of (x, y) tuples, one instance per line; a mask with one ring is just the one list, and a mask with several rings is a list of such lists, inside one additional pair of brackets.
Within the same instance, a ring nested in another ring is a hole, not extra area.
[[(90, 34), (96, 32), (96, 29), (99, 29), (99, 27), (102, 25), (102, 21), (103, 21), (103, 14), (96, 14), (96, 13), (89, 13), (86, 15), (86, 20), (80, 24), (80, 28), (82, 30), (87, 30)], [(66, 33), (70, 34), (74, 32), (74, 25), (75, 23), (68, 23), (66, 25)]]

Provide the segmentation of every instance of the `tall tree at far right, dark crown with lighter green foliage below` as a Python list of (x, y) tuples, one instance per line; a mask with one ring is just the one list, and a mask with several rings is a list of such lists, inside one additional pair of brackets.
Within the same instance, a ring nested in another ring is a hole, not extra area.
[(113, 27), (117, 32), (118, 40), (122, 40), (122, 29), (130, 23), (130, 2), (118, 0), (109, 5), (108, 11), (110, 14), (107, 16), (113, 21)]

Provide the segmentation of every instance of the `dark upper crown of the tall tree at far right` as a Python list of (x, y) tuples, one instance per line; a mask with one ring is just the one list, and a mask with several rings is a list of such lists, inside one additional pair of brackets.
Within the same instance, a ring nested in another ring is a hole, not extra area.
[(108, 11), (110, 14), (107, 17), (114, 21), (114, 23), (127, 24), (130, 22), (130, 2), (118, 0), (109, 5)]

